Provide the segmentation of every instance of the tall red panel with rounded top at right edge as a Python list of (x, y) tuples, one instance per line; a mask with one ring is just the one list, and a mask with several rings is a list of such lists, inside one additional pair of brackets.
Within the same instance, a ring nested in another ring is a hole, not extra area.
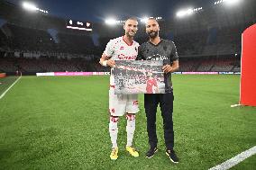
[(256, 106), (256, 24), (242, 33), (240, 104)]

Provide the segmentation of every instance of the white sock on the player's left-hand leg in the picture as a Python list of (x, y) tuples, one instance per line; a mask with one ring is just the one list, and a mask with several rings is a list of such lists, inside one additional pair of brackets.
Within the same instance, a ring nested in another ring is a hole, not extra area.
[(112, 142), (112, 148), (117, 148), (117, 133), (118, 133), (118, 117), (110, 117), (109, 121), (109, 135)]

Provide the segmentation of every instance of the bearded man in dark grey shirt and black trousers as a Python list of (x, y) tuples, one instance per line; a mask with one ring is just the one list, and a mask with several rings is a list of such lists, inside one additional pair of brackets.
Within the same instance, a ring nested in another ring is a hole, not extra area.
[(138, 51), (138, 60), (163, 60), (162, 70), (164, 71), (165, 94), (144, 94), (144, 108), (147, 116), (147, 131), (149, 136), (150, 149), (146, 157), (151, 158), (157, 152), (156, 133), (156, 112), (160, 103), (161, 116), (163, 118), (164, 139), (166, 154), (169, 159), (178, 163), (178, 157), (174, 151), (173, 132), (173, 89), (171, 83), (171, 73), (178, 70), (178, 53), (171, 40), (160, 39), (159, 23), (150, 18), (146, 22), (146, 32), (150, 40), (144, 42)]

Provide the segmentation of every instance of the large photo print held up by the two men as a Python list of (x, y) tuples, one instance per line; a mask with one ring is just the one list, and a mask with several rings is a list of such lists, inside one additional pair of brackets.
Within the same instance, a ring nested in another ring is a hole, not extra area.
[(163, 62), (115, 60), (114, 94), (165, 94)]

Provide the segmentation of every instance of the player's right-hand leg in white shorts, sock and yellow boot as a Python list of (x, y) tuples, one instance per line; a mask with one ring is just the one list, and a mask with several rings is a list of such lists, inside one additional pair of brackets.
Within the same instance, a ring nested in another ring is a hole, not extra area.
[(136, 116), (135, 113), (139, 112), (138, 94), (128, 94), (126, 103), (126, 132), (127, 132), (127, 144), (126, 150), (133, 156), (139, 157), (138, 151), (133, 148), (133, 136), (135, 131)]

